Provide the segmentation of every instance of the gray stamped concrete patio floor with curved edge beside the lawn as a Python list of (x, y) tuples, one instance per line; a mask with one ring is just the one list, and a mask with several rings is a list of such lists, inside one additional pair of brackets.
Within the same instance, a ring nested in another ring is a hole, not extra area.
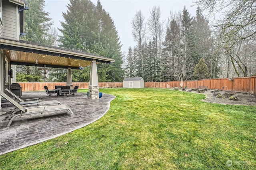
[(45, 92), (22, 92), (21, 98), (40, 98), (42, 101), (58, 100), (70, 107), (74, 115), (68, 111), (25, 115), (15, 118), (10, 127), (6, 127), (9, 122), (8, 116), (14, 106), (0, 109), (0, 112), (6, 112), (0, 115), (0, 154), (53, 139), (89, 125), (108, 111), (110, 102), (116, 97), (103, 94), (102, 98), (91, 100), (87, 98), (86, 93), (46, 97)]

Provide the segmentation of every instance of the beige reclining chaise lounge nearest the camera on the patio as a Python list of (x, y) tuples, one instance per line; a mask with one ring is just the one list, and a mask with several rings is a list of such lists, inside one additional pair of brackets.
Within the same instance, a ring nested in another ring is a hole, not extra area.
[(31, 114), (40, 114), (40, 113), (43, 114), (44, 112), (47, 112), (47, 111), (57, 111), (57, 110), (67, 110), (67, 111), (70, 111), (72, 115), (74, 115), (71, 108), (65, 105), (24, 107), (18, 104), (18, 102), (16, 102), (12, 98), (10, 98), (4, 92), (0, 91), (0, 95), (6, 100), (8, 100), (10, 103), (12, 103), (15, 107), (18, 108), (15, 114), (12, 115), (12, 117), (10, 117), (10, 121), (7, 127), (11, 125), (15, 117), (21, 117), (22, 115), (31, 115)]

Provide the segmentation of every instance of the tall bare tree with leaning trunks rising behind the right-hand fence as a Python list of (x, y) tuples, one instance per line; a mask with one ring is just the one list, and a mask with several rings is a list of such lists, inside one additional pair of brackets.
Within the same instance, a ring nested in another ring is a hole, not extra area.
[[(233, 71), (227, 69), (227, 76), (247, 76), (248, 57), (242, 49), (247, 49), (248, 42), (256, 37), (255, 1), (253, 0), (199, 0), (197, 2), (209, 15), (222, 12), (219, 20), (215, 20), (214, 28), (218, 34), (218, 46), (223, 48), (223, 55), (228, 57), (226, 65), (233, 66)], [(250, 44), (250, 43), (249, 43)]]

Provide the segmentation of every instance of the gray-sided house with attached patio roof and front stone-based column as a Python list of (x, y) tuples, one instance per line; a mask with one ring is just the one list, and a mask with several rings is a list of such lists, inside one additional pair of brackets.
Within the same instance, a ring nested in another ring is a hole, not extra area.
[(26, 35), (24, 10), (29, 9), (23, 0), (0, 0), (0, 90), (4, 92), (5, 88), (10, 89), (12, 77), (15, 82), (15, 65), (71, 69), (91, 66), (89, 98), (99, 98), (96, 63), (113, 63), (114, 60), (20, 40), (21, 36)]

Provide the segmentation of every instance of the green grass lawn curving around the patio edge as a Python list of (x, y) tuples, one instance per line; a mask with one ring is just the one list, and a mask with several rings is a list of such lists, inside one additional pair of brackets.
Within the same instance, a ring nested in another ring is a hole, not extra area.
[(104, 93), (116, 96), (104, 117), (72, 133), (4, 154), (0, 169), (256, 167), (255, 106), (206, 103), (200, 101), (204, 95), (170, 89), (100, 92), (103, 97)]

